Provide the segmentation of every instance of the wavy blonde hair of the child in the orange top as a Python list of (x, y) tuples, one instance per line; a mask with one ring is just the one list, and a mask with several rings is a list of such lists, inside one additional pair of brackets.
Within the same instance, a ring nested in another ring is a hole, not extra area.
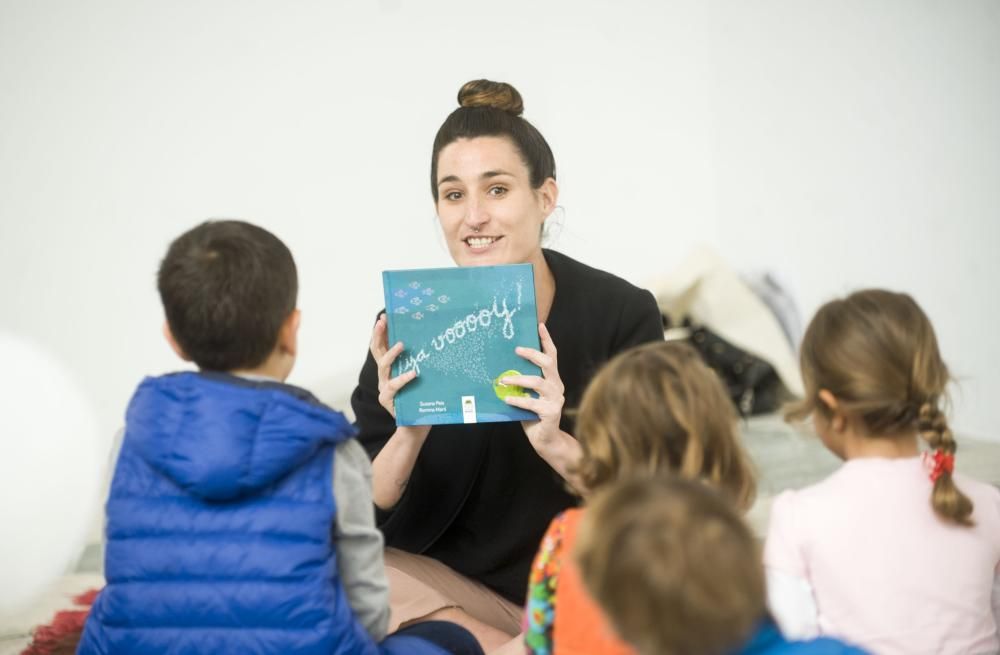
[(574, 472), (588, 492), (662, 471), (720, 487), (741, 509), (756, 484), (736, 412), (718, 375), (690, 346), (657, 341), (611, 359), (577, 413), (583, 456)]

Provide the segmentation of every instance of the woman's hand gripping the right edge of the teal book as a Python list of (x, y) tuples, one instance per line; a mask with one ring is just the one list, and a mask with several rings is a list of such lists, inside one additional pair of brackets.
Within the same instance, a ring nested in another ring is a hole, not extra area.
[(538, 340), (541, 342), (541, 352), (524, 347), (518, 347), (514, 352), (542, 369), (542, 376), (511, 375), (501, 382), (524, 387), (538, 394), (537, 398), (510, 395), (504, 400), (508, 405), (538, 414), (538, 420), (521, 421), (521, 425), (524, 427), (524, 433), (528, 435), (528, 441), (538, 454), (545, 457), (546, 451), (563, 434), (559, 430), (559, 419), (562, 418), (563, 403), (566, 399), (563, 397), (565, 389), (562, 378), (559, 377), (556, 345), (552, 342), (544, 323), (538, 324)]

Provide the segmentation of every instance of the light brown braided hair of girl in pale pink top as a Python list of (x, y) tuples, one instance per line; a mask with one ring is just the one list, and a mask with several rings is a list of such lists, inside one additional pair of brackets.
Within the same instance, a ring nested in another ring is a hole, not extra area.
[[(823, 305), (802, 339), (800, 366), (805, 398), (786, 409), (786, 419), (829, 419), (819, 400), (826, 389), (870, 436), (916, 431), (931, 450), (954, 455), (941, 408), (951, 377), (934, 327), (907, 294), (868, 289)], [(934, 481), (931, 505), (945, 520), (972, 524), (972, 501), (947, 470)]]

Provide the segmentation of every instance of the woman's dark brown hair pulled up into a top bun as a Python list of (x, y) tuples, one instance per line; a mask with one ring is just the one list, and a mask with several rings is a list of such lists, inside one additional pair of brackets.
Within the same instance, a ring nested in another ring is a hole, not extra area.
[(459, 107), (451, 112), (434, 137), (431, 153), (431, 194), (438, 200), (437, 163), (441, 150), (458, 139), (499, 136), (511, 140), (528, 168), (531, 187), (555, 179), (552, 149), (535, 126), (521, 118), (524, 103), (510, 84), (490, 80), (466, 82), (458, 92)]

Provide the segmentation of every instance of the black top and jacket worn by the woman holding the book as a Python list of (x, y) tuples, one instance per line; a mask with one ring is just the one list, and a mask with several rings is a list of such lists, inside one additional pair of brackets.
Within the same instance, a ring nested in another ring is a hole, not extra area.
[[(572, 434), (566, 411), (579, 405), (596, 369), (630, 346), (662, 339), (663, 327), (649, 291), (558, 252), (544, 255), (556, 284), (545, 325), (565, 387), (560, 426)], [(374, 458), (396, 423), (378, 402), (371, 354), (351, 405)], [(520, 423), (441, 425), (431, 429), (399, 503), (377, 514), (387, 545), (433, 557), (520, 605), (545, 529), (575, 504)]]

